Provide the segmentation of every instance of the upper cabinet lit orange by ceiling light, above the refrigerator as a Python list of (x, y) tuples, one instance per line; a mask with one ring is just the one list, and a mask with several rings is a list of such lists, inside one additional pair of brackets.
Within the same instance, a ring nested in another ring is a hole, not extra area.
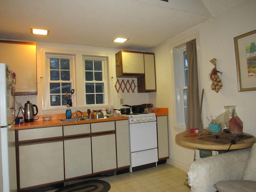
[(37, 95), (36, 43), (0, 40), (0, 62), (16, 74), (16, 95)]

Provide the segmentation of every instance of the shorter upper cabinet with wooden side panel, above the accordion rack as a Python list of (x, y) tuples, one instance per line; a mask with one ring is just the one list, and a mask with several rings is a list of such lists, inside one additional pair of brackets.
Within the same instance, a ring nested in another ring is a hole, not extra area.
[(140, 76), (144, 76), (143, 53), (124, 50), (116, 53), (116, 77)]

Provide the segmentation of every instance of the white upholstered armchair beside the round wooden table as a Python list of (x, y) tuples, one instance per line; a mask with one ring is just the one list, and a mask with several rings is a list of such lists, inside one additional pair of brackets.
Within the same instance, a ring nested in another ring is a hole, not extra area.
[[(214, 184), (228, 180), (256, 181), (256, 144), (250, 148), (201, 158), (194, 161), (188, 171), (188, 184), (191, 187), (191, 192), (216, 192)], [(233, 184), (238, 184), (238, 182), (232, 182)], [(221, 182), (218, 184), (222, 185)], [(226, 182), (224, 184), (231, 188), (232, 183)], [(255, 184), (256, 182), (252, 185), (256, 187)], [(247, 186), (248, 184), (245, 185)], [(220, 188), (218, 190), (219, 192), (230, 191), (221, 190)], [(231, 191), (235, 192), (236, 190)], [(256, 188), (253, 191), (256, 191)]]

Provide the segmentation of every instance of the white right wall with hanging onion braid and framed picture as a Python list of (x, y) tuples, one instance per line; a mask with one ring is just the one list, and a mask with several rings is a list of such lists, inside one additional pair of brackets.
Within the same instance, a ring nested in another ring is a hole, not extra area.
[[(170, 160), (168, 162), (188, 170), (194, 159), (193, 150), (182, 148), (175, 143), (174, 130), (174, 72), (170, 46), (199, 34), (201, 89), (204, 88), (203, 123), (206, 117), (218, 116), (224, 112), (224, 105), (236, 105), (236, 112), (244, 123), (244, 132), (256, 136), (256, 118), (254, 97), (256, 91), (238, 92), (234, 37), (256, 29), (256, 1), (248, 0), (216, 18), (212, 18), (186, 32), (157, 46), (154, 50), (156, 60), (157, 92), (149, 94), (149, 102), (156, 106), (169, 108)], [(209, 62), (217, 59), (217, 69), (223, 72), (223, 87), (219, 93), (211, 90), (208, 74), (213, 65)], [(155, 96), (156, 95), (156, 96)]]

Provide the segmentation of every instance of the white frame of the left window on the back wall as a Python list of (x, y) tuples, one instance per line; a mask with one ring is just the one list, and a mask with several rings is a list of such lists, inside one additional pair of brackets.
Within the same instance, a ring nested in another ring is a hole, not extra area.
[[(46, 53), (46, 108), (66, 108), (66, 105), (60, 105), (60, 106), (51, 106), (50, 105), (50, 59), (56, 58), (56, 59), (69, 59), (70, 60), (70, 83), (71, 83), (71, 89), (75, 87), (75, 74), (74, 74), (74, 64), (75, 64), (75, 56), (70, 54), (58, 54), (58, 53)], [(63, 82), (62, 80), (59, 80), (58, 82)], [(66, 82), (66, 81), (64, 81)], [(68, 93), (70, 95), (70, 93)], [(63, 95), (63, 94), (62, 94)], [(72, 99), (72, 106), (75, 106), (76, 102)]]

